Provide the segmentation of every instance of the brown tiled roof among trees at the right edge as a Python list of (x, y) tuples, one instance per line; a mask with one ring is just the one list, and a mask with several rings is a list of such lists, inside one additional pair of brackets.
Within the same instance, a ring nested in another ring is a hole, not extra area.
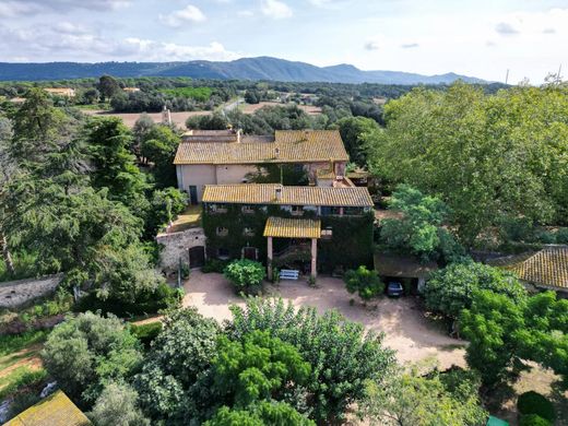
[(489, 264), (545, 287), (568, 289), (568, 246), (548, 246), (536, 253), (495, 259)]

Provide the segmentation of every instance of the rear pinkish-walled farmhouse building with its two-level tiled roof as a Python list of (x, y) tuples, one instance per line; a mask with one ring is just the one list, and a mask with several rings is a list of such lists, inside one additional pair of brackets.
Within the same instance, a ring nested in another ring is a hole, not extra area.
[(343, 178), (347, 161), (338, 131), (283, 130), (270, 138), (226, 130), (186, 133), (174, 164), (179, 189), (194, 204), (201, 202), (205, 185), (245, 184), (269, 165), (289, 165), (315, 184), (319, 169)]

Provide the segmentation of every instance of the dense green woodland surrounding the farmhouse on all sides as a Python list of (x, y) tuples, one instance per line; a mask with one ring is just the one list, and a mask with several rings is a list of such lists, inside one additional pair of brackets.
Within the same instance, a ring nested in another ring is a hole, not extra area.
[[(553, 292), (530, 294), (512, 274), (472, 259), (474, 251), (568, 244), (565, 85), (494, 92), (463, 83), (411, 90), (191, 81), (193, 88), (185, 90), (189, 83), (180, 79), (105, 78), (60, 85), (85, 92), (96, 86), (97, 98), (113, 104), (122, 96), (115, 83), (144, 82), (149, 93), (168, 91), (163, 95), (205, 104), (239, 91), (255, 92), (257, 99), (271, 90), (317, 94), (323, 111), (317, 116), (285, 105), (252, 115), (213, 111), (187, 126), (233, 126), (256, 134), (339, 129), (350, 168), (370, 170), (379, 206), (399, 213), (375, 225), (376, 249), (438, 264), (425, 287), (425, 309), (459, 324), (470, 341), (468, 368), (403, 368), (382, 335), (365, 333), (338, 312), (298, 311), (279, 299), (248, 298), (223, 324), (179, 309), (181, 291), (156, 272), (153, 237), (185, 208), (171, 164), (182, 129), (142, 116), (129, 130), (118, 118), (87, 117), (39, 87), (4, 84), (4, 95), (25, 94), (25, 102), (4, 102), (0, 110), (0, 277), (64, 272), (52, 298), (10, 318), (34, 331), (31, 312), (68, 313), (51, 333), (43, 332), (46, 371), (14, 388), (20, 391), (12, 415), (37, 400), (29, 383), (49, 377), (96, 425), (366, 418), (379, 425), (474, 426), (485, 424), (494, 395), (513, 384), (528, 362), (566, 379), (568, 300)], [(105, 93), (107, 85), (114, 94)], [(391, 99), (382, 107), (372, 102), (376, 96)], [(258, 264), (223, 270), (230, 282), (246, 273), (255, 283), (264, 279)], [(384, 289), (378, 272), (363, 265), (347, 271), (345, 282), (364, 303)], [(73, 288), (84, 294), (78, 304), (70, 297)], [(122, 321), (161, 309), (163, 324)], [(26, 339), (10, 338), (5, 347)], [(535, 405), (540, 411), (523, 413), (547, 423), (525, 424), (552, 424), (549, 402)]]

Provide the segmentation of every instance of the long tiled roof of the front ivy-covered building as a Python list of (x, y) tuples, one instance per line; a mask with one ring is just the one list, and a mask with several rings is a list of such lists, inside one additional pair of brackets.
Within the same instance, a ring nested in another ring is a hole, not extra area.
[[(281, 190), (280, 198), (276, 190)], [(205, 185), (204, 203), (372, 206), (367, 188), (284, 187), (277, 184)]]

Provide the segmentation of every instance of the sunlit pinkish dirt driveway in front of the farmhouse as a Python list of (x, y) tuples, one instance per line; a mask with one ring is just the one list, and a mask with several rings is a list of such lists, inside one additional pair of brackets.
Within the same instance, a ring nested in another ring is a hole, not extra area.
[[(192, 271), (185, 283), (184, 306), (194, 306), (205, 317), (217, 321), (230, 319), (229, 305), (244, 305), (230, 284), (221, 274), (203, 274)], [(319, 277), (318, 287), (311, 288), (303, 281), (284, 281), (280, 286), (267, 287), (295, 306), (313, 306), (320, 312), (338, 309), (350, 320), (362, 322), (368, 330), (382, 331), (387, 346), (397, 351), (401, 363), (416, 363), (436, 357), (441, 368), (452, 364), (465, 366), (463, 342), (450, 339), (437, 324), (424, 317), (412, 297), (384, 298), (377, 309), (350, 305), (353, 297), (341, 280)]]

